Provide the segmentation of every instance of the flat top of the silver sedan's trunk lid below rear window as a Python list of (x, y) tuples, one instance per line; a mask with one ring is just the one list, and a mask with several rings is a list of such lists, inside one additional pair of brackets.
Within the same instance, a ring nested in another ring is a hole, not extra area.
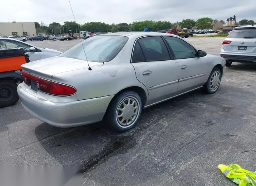
[[(90, 67), (100, 67), (103, 63), (88, 61)], [(49, 57), (21, 65), (22, 70), (38, 77), (52, 79), (52, 75), (88, 68), (87, 61), (68, 57)]]

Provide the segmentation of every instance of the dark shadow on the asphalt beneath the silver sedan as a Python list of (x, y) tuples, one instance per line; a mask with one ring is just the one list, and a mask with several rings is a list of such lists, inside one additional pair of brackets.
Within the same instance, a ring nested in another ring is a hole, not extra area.
[[(95, 164), (106, 161), (116, 153), (126, 153), (136, 146), (136, 135), (147, 131), (151, 123), (157, 122), (163, 110), (183, 105), (184, 99), (204, 95), (200, 90), (165, 101), (144, 109), (139, 123), (130, 131), (115, 133), (104, 121), (74, 128), (58, 128), (42, 123), (35, 129), (35, 135), (42, 147), (58, 164), (82, 165), (84, 172)], [(182, 103), (179, 103), (182, 102)], [(51, 160), (52, 161), (52, 160)]]

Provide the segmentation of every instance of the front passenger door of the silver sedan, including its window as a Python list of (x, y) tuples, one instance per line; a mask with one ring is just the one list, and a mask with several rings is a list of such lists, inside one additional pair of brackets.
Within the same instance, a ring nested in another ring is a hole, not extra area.
[(164, 36), (164, 38), (178, 62), (178, 91), (186, 92), (204, 85), (208, 79), (206, 57), (197, 57), (196, 49), (178, 37)]

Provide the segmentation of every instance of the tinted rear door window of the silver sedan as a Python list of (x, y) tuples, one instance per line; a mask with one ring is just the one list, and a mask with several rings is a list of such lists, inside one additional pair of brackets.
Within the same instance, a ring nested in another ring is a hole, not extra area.
[(170, 55), (161, 36), (149, 36), (136, 41), (132, 62), (170, 60)]

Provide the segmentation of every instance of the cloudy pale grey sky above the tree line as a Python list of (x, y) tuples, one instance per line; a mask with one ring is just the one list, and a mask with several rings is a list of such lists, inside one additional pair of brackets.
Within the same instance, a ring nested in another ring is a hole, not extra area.
[[(70, 0), (76, 22), (132, 23), (142, 20), (180, 22), (210, 17), (256, 21), (256, 0)], [(74, 21), (68, 0), (0, 0), (0, 22)]]

